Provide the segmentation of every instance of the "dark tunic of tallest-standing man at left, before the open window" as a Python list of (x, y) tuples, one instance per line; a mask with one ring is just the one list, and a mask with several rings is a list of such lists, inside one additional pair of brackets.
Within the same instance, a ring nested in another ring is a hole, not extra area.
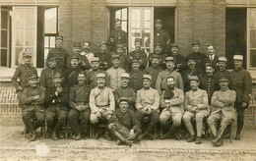
[(47, 60), (50, 57), (54, 57), (57, 60), (57, 69), (67, 69), (67, 60), (68, 60), (69, 53), (66, 49), (62, 47), (53, 48), (49, 51), (47, 55)]

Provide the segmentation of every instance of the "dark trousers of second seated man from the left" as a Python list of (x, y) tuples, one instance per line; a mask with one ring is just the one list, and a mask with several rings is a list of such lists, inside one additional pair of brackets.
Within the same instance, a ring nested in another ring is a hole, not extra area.
[(48, 129), (53, 130), (53, 132), (59, 132), (67, 120), (68, 111), (50, 106), (46, 110), (45, 117)]

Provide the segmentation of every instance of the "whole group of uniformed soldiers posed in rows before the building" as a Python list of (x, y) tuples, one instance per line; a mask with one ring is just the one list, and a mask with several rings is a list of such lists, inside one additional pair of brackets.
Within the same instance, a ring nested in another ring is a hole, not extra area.
[(63, 48), (63, 37), (57, 36), (56, 47), (49, 51), (47, 67), (39, 79), (31, 66), (32, 54), (24, 53), (24, 64), (16, 69), (12, 83), (32, 141), (44, 120), (54, 140), (64, 136), (61, 129), (67, 123), (73, 139), (87, 137), (89, 124), (98, 137), (101, 122), (107, 124), (104, 137), (116, 138), (118, 144), (155, 139), (159, 122), (166, 132), (160, 139), (171, 135), (181, 139), (178, 129), (183, 121), (189, 133), (187, 141), (202, 143), (205, 122), (215, 136), (213, 144), (219, 146), (226, 127), (235, 120), (235, 139), (240, 139), (252, 88), (252, 78), (242, 68), (242, 55), (233, 56), (234, 69), (228, 71), (226, 58), (218, 57), (213, 45), (208, 46), (208, 54), (203, 54), (199, 41), (195, 41), (193, 52), (185, 58), (175, 43), (166, 51), (166, 36), (164, 41), (156, 41), (155, 51), (149, 55), (141, 49), (142, 39), (136, 38), (136, 49), (127, 55), (122, 40), (125, 32), (118, 25), (119, 21), (109, 41), (100, 43), (95, 54), (89, 41), (83, 43), (82, 51), (81, 44), (74, 43), (69, 54)]

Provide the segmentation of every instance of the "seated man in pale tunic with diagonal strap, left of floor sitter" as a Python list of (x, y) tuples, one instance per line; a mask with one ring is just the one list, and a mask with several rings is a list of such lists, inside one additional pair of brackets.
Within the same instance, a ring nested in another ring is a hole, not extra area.
[[(97, 86), (90, 93), (91, 122), (96, 131), (95, 137), (98, 136), (98, 121), (108, 120), (115, 111), (115, 102), (112, 89), (105, 86), (105, 74), (96, 75)], [(110, 139), (108, 133), (105, 138)]]

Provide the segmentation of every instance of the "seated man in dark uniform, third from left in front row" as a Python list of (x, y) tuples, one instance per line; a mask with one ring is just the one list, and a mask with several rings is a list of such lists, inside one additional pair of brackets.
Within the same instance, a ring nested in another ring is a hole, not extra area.
[(72, 130), (72, 138), (80, 140), (88, 133), (90, 122), (89, 96), (91, 88), (86, 84), (86, 73), (82, 71), (77, 77), (78, 84), (71, 87), (69, 92), (69, 111), (68, 119)]

